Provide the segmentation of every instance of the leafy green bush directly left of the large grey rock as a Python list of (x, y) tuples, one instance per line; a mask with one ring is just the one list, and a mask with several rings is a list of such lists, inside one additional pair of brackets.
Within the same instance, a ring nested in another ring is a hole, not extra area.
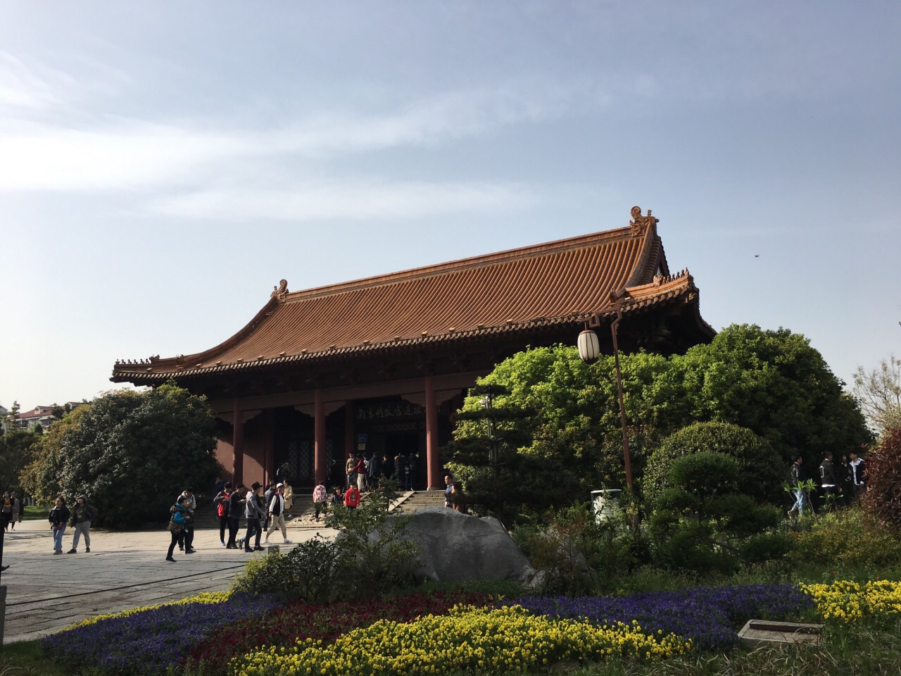
[(333, 508), (340, 533), (336, 580), (341, 598), (369, 598), (408, 584), (418, 561), (418, 545), (404, 537), (409, 516), (393, 516), (388, 504), (396, 492), (383, 485), (356, 509)]

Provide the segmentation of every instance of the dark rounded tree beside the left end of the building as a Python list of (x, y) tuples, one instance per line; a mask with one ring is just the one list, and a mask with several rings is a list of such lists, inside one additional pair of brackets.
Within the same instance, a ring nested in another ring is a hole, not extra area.
[(165, 520), (182, 490), (221, 471), (214, 432), (205, 397), (187, 389), (114, 391), (50, 425), (23, 483), (42, 504), (86, 493), (106, 524)]

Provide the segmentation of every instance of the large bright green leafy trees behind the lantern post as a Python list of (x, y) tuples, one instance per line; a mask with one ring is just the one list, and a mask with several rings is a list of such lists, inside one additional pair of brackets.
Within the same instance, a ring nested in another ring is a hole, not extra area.
[[(695, 422), (750, 430), (763, 448), (769, 444), (776, 452), (768, 454), (774, 466), (787, 467), (795, 452), (816, 466), (825, 452), (840, 457), (872, 437), (857, 402), (820, 352), (787, 329), (733, 324), (684, 355), (635, 352), (620, 361), (636, 477), (666, 436)], [(519, 471), (531, 463), (538, 472), (521, 475), (520, 485), (560, 484), (560, 495), (571, 498), (624, 485), (612, 356), (589, 365), (575, 347), (530, 349), (497, 364), (478, 384), (505, 388), (498, 406), (523, 414), (516, 426), (529, 440), (503, 447), (510, 461), (514, 454), (523, 456)], [(468, 397), (464, 412), (477, 410), (479, 398)], [(484, 423), (461, 416), (455, 435), (484, 437), (479, 425), (484, 430)]]

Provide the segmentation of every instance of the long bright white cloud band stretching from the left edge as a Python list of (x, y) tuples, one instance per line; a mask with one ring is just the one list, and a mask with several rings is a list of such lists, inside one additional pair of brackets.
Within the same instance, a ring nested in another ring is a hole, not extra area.
[[(586, 96), (593, 95), (577, 83), (553, 85), (529, 78), (424, 97), (369, 114), (323, 111), (274, 129), (114, 117), (70, 128), (0, 118), (0, 192), (206, 188), (223, 172), (246, 173), (249, 162), (265, 171), (292, 161), (308, 165), (309, 160), (437, 146), (560, 117), (577, 100), (584, 104)], [(30, 100), (37, 105), (39, 98), (32, 94)]]

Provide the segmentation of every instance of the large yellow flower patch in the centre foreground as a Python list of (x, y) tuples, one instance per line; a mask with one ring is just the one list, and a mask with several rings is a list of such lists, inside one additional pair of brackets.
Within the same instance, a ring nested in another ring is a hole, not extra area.
[(413, 622), (379, 620), (333, 644), (306, 639), (250, 653), (232, 662), (231, 671), (241, 676), (494, 673), (614, 655), (660, 659), (690, 648), (690, 641), (662, 632), (649, 635), (637, 624), (598, 626), (540, 617), (521, 607), (455, 607), (447, 615)]

